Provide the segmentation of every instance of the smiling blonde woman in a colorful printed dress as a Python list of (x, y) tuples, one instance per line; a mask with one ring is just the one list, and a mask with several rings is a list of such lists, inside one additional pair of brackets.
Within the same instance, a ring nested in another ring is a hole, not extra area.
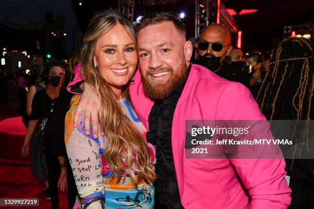
[[(138, 64), (133, 24), (114, 11), (97, 13), (84, 36), (82, 74), (101, 98), (104, 137), (73, 129), (80, 96), (66, 116), (65, 142), (80, 208), (153, 208), (154, 147), (133, 111), (128, 83)], [(89, 126), (89, 124), (88, 124)]]

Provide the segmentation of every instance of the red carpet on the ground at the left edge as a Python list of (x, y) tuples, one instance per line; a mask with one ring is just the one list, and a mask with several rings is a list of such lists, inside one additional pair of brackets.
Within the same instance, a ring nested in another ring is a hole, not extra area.
[[(50, 208), (43, 183), (32, 176), (30, 161), (23, 160), (21, 148), (26, 128), (16, 110), (0, 106), (0, 198), (39, 198), (40, 206), (0, 206), (0, 208)], [(59, 193), (60, 208), (68, 208), (66, 193)]]

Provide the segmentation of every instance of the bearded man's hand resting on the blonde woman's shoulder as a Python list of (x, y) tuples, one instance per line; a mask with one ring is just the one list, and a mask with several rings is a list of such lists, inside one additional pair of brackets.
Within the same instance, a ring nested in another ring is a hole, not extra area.
[[(76, 108), (74, 113), (74, 127), (77, 128), (78, 119), (80, 119), (81, 114), (84, 112), (84, 123), (85, 123), (85, 132), (87, 135), (90, 134), (90, 121), (92, 122), (92, 134), (94, 138), (98, 138), (99, 133), (99, 116), (102, 116), (100, 113), (101, 100), (95, 91), (89, 86), (88, 83), (84, 83), (83, 94), (80, 98), (80, 103)], [(102, 127), (101, 135), (104, 136)]]

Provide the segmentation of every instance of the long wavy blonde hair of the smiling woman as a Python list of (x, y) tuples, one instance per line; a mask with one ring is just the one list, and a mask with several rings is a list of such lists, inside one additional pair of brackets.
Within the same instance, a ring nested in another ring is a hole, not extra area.
[[(121, 105), (116, 100), (109, 83), (94, 67), (93, 58), (97, 40), (116, 24), (122, 25), (136, 43), (133, 24), (127, 17), (112, 10), (96, 13), (91, 19), (83, 39), (82, 73), (101, 98), (101, 126), (108, 138), (107, 149), (103, 156), (110, 166), (112, 175), (116, 172), (118, 182), (122, 175), (125, 177), (126, 174), (131, 177), (134, 184), (143, 180), (152, 182), (155, 173), (149, 166), (150, 151), (146, 140), (125, 118)], [(130, 102), (126, 86), (122, 94)], [(135, 156), (132, 153), (135, 153)], [(134, 173), (137, 173), (137, 181)]]

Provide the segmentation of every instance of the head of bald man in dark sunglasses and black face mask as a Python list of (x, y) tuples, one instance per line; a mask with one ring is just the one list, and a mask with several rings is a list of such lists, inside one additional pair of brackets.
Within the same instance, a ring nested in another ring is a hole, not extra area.
[(203, 29), (197, 44), (197, 63), (217, 73), (232, 50), (231, 35), (223, 25), (212, 24)]

